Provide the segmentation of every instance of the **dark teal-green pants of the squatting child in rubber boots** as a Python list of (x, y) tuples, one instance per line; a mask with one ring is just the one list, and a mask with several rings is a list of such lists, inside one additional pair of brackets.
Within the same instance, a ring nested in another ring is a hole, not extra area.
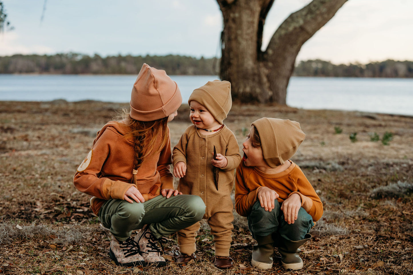
[(261, 207), (259, 201), (254, 204), (251, 213), (247, 217), (248, 228), (251, 231), (252, 237), (256, 239), (256, 236), (264, 237), (276, 233), (290, 241), (304, 239), (304, 236), (314, 226), (313, 218), (311, 218), (310, 214), (301, 207), (298, 211), (297, 220), (292, 224), (288, 224), (284, 220), (281, 204), (275, 200), (274, 205), (274, 209), (268, 212)]

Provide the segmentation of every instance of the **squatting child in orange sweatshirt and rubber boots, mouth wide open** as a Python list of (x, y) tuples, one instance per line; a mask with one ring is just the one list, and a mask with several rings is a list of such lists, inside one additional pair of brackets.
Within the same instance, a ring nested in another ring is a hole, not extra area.
[(282, 267), (301, 269), (298, 249), (311, 239), (310, 229), (323, 215), (323, 204), (290, 160), (304, 140), (298, 122), (261, 118), (242, 144), (244, 156), (235, 175), (235, 210), (246, 216), (252, 237), (252, 266), (273, 265), (274, 247)]

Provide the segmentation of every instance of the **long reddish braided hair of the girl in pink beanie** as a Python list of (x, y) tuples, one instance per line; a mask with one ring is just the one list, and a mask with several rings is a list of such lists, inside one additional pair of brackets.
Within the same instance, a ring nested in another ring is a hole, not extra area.
[[(142, 165), (143, 160), (152, 154), (159, 153), (169, 140), (169, 135), (166, 134), (168, 116), (153, 121), (138, 121), (131, 118), (128, 109), (122, 109), (115, 119), (118, 121), (126, 119), (126, 125), (131, 128), (129, 133), (133, 135), (133, 151), (135, 153), (131, 183), (136, 184), (136, 170)], [(158, 135), (161, 136), (161, 143), (154, 150)]]

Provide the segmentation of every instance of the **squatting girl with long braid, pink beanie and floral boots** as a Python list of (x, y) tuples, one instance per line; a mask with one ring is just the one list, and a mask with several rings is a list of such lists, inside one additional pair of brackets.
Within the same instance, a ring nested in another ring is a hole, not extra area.
[(110, 229), (109, 256), (119, 266), (165, 266), (162, 237), (204, 216), (202, 199), (175, 190), (169, 170), (167, 123), (181, 103), (176, 82), (165, 71), (143, 64), (130, 111), (103, 126), (74, 176), (75, 187), (93, 196), (93, 213)]

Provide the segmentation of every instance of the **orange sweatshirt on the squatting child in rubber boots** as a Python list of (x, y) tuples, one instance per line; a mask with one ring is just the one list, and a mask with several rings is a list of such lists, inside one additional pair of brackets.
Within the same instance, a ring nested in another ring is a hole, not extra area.
[(287, 170), (268, 174), (255, 167), (247, 167), (242, 161), (235, 174), (235, 210), (237, 213), (241, 216), (248, 216), (252, 206), (258, 201), (258, 189), (266, 186), (280, 195), (277, 199), (280, 203), (291, 194), (299, 194), (301, 207), (313, 217), (313, 221), (319, 220), (323, 215), (323, 204), (298, 165), (290, 162), (291, 165)]

